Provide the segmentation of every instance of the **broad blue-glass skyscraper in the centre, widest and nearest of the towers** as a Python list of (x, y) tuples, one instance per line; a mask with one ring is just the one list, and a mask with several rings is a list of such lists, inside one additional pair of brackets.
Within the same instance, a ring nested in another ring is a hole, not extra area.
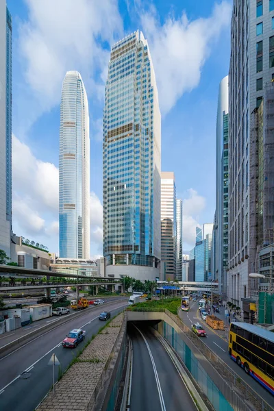
[(147, 40), (110, 53), (103, 114), (103, 255), (107, 275), (158, 277), (161, 118)]

